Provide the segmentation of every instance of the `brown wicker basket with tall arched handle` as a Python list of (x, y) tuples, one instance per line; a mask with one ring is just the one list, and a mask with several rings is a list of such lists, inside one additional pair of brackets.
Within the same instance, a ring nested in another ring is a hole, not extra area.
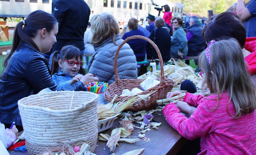
[(119, 45), (119, 47), (116, 51), (115, 59), (114, 59), (115, 82), (111, 83), (107, 87), (107, 89), (105, 90), (105, 93), (104, 93), (104, 97), (107, 101), (111, 102), (111, 100), (117, 94), (118, 97), (115, 99), (115, 102), (118, 102), (120, 100), (128, 100), (128, 99), (130, 99), (131, 97), (133, 97), (135, 95), (131, 95), (129, 97), (123, 97), (123, 96), (120, 96), (122, 94), (122, 91), (124, 89), (129, 89), (131, 91), (133, 88), (140, 88), (140, 83), (144, 81), (142, 79), (122, 79), (122, 80), (119, 80), (118, 71), (117, 71), (118, 54), (119, 54), (119, 51), (122, 48), (122, 46), (125, 43), (127, 43), (128, 41), (130, 41), (131, 39), (144, 39), (144, 40), (148, 41), (150, 44), (152, 44), (152, 46), (156, 49), (157, 55), (159, 57), (160, 65), (161, 65), (160, 83), (158, 85), (156, 85), (155, 87), (152, 87), (148, 90), (145, 90), (144, 92), (139, 93), (138, 95), (145, 95), (145, 94), (149, 94), (149, 93), (154, 92), (154, 91), (156, 91), (156, 92), (151, 94), (150, 97), (147, 98), (146, 100), (143, 100), (143, 99), (135, 100), (132, 103), (132, 106), (128, 107), (128, 110), (147, 109), (151, 106), (156, 105), (156, 100), (165, 99), (166, 94), (169, 91), (171, 91), (171, 89), (173, 88), (173, 85), (175, 84), (173, 82), (173, 80), (164, 78), (163, 59), (162, 59), (161, 53), (160, 53), (158, 47), (156, 46), (156, 44), (153, 41), (151, 41), (150, 39), (148, 39), (147, 37), (143, 37), (143, 36), (127, 37), (125, 39), (125, 41), (123, 41), (123, 43), (121, 43)]

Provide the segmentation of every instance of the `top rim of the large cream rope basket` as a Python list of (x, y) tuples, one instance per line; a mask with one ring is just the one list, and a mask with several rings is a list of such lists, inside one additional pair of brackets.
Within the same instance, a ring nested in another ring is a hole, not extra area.
[[(88, 102), (82, 104), (81, 106), (75, 107), (75, 108), (70, 109), (70, 110), (69, 110), (69, 109), (54, 110), (54, 109), (50, 109), (50, 108), (48, 108), (48, 107), (41, 107), (41, 106), (35, 106), (35, 105), (27, 106), (27, 105), (21, 103), (22, 101), (26, 101), (26, 100), (30, 99), (31, 97), (49, 95), (49, 94), (53, 94), (53, 93), (54, 93), (54, 94), (57, 94), (57, 95), (58, 95), (58, 94), (61, 95), (61, 94), (63, 94), (63, 93), (67, 93), (67, 92), (73, 93), (73, 91), (55, 91), (55, 92), (47, 92), (47, 93), (41, 93), (41, 94), (30, 95), (30, 96), (28, 96), (28, 97), (24, 97), (24, 98), (18, 100), (18, 106), (19, 106), (19, 107), (22, 107), (22, 108), (40, 109), (42, 112), (46, 112), (46, 113), (49, 113), (49, 112), (52, 113), (52, 112), (54, 111), (54, 113), (56, 113), (56, 114), (61, 114), (61, 113), (66, 112), (66, 111), (67, 111), (67, 112), (76, 112), (76, 111), (78, 111), (78, 110), (80, 110), (80, 109), (82, 109), (82, 108), (85, 108), (86, 105), (92, 104), (96, 99), (99, 99), (99, 95), (97, 95), (97, 94), (95, 94), (95, 93), (92, 93), (92, 92), (85, 92), (85, 91), (75, 91), (75, 92), (74, 92), (74, 95), (75, 95), (75, 94), (90, 94), (90, 95), (93, 95), (94, 97), (93, 97), (91, 100), (89, 100)], [(54, 113), (52, 113), (52, 114), (54, 115)]]

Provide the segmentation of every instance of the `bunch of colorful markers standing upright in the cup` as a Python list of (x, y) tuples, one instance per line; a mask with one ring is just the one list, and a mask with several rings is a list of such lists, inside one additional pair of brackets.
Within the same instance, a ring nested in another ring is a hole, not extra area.
[(106, 89), (109, 83), (105, 82), (87, 82), (85, 85), (85, 88), (88, 92), (93, 92), (96, 94), (103, 93)]

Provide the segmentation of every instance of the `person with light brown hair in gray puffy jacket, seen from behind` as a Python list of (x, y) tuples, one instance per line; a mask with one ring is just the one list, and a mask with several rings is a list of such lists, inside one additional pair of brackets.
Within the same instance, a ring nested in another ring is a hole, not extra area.
[[(114, 17), (106, 13), (96, 15), (93, 19), (91, 29), (95, 53), (89, 62), (88, 72), (96, 73), (100, 82), (113, 83), (114, 57), (119, 44), (123, 43), (119, 35), (119, 26)], [(119, 51), (117, 69), (120, 79), (137, 78), (136, 56), (127, 43)]]

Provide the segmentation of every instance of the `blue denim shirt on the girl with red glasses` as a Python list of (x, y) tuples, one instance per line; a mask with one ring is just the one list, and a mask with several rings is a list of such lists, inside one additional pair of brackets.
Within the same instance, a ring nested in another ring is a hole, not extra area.
[[(76, 75), (78, 75), (78, 73)], [(70, 86), (69, 81), (72, 80), (72, 77), (67, 73), (62, 73), (61, 70), (59, 70), (58, 73), (52, 75), (52, 80), (59, 88), (65, 88)]]

